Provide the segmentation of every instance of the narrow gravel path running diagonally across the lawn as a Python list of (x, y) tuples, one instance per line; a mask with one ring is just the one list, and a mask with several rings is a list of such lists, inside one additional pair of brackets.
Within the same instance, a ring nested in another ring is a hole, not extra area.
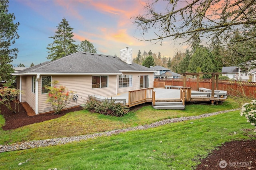
[(168, 123), (176, 123), (176, 122), (182, 122), (182, 121), (188, 121), (188, 120), (194, 120), (194, 119), (200, 119), (204, 117), (210, 117), (212, 115), (218, 115), (221, 113), (227, 113), (231, 111), (236, 111), (240, 109), (231, 109), (227, 111), (219, 111), (214, 113), (206, 113), (199, 116), (190, 116), (190, 117), (180, 117), (180, 118), (173, 118), (173, 119), (165, 119), (163, 121), (151, 123), (150, 125), (141, 125), (137, 127), (130, 127), (130, 128), (124, 128), (124, 129), (118, 129), (118, 130), (110, 130), (107, 132), (100, 132), (95, 134), (86, 134), (81, 136), (71, 136), (71, 137), (64, 137), (64, 138), (53, 138), (53, 139), (45, 139), (45, 140), (33, 140), (29, 142), (18, 142), (8, 145), (0, 145), (0, 152), (8, 152), (13, 150), (22, 150), (22, 149), (29, 149), (29, 148), (37, 148), (37, 147), (45, 147), (45, 146), (54, 146), (54, 145), (60, 145), (60, 144), (66, 144), (71, 142), (79, 142), (81, 140), (86, 140), (89, 138), (96, 138), (98, 136), (111, 136), (112, 134), (119, 134), (121, 132), (128, 132), (132, 130), (144, 130), (148, 128), (154, 128), (159, 127)]

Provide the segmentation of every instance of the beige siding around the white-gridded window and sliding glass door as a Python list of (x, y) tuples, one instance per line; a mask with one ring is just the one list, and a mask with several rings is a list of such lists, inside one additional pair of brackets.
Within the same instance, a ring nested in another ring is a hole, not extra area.
[[(122, 87), (119, 88), (117, 81), (117, 93), (124, 93), (131, 90), (140, 89), (140, 76), (141, 75), (149, 75), (149, 86), (150, 88), (154, 87), (154, 73), (132, 73), (132, 72), (123, 72), (123, 75), (132, 75), (132, 87)], [(118, 76), (119, 79), (119, 76)]]

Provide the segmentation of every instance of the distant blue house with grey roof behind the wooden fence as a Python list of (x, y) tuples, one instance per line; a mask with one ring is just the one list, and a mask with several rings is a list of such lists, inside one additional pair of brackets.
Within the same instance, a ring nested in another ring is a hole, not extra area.
[(153, 71), (156, 71), (154, 73), (155, 79), (170, 79), (170, 78), (179, 79), (182, 76), (178, 73), (172, 72), (170, 69), (167, 69), (167, 68), (159, 66), (159, 65), (150, 67), (150, 69)]

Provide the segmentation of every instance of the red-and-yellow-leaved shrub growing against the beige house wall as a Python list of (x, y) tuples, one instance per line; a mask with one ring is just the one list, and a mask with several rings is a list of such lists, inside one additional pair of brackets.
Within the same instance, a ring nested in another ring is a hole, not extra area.
[(59, 114), (60, 111), (68, 105), (73, 99), (73, 91), (68, 91), (66, 87), (60, 85), (56, 86), (58, 81), (53, 82), (53, 87), (46, 86), (45, 89), (48, 90), (47, 102), (50, 102), (52, 109), (54, 110), (54, 114)]

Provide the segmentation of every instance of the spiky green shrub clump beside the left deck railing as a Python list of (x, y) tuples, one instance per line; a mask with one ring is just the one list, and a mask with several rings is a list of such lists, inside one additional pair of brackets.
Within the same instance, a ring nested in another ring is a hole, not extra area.
[(130, 111), (129, 107), (119, 102), (116, 103), (114, 99), (110, 101), (98, 101), (95, 97), (89, 97), (86, 104), (81, 106), (83, 109), (89, 110), (90, 112), (116, 117), (122, 117)]

